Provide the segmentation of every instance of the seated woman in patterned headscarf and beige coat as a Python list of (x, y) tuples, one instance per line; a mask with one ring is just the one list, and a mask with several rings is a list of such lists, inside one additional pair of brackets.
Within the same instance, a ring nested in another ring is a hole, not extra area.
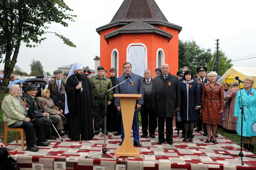
[(59, 107), (54, 105), (53, 100), (50, 98), (49, 89), (44, 89), (41, 95), (42, 97), (39, 99), (39, 102), (43, 105), (46, 112), (50, 113), (51, 116), (59, 119), (59, 124), (55, 128), (57, 129), (58, 133), (63, 136), (63, 134), (60, 133), (61, 130), (64, 129), (62, 122), (62, 117), (64, 117), (63, 110), (60, 109), (59, 111)]

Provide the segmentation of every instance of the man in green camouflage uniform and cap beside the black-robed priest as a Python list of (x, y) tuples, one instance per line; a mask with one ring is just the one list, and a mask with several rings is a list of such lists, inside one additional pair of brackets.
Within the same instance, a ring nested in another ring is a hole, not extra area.
[[(112, 88), (111, 80), (104, 75), (104, 68), (99, 66), (97, 69), (97, 75), (91, 78), (93, 96), (95, 100), (95, 106), (93, 108), (93, 118), (94, 118), (94, 135), (100, 133), (100, 116), (102, 122), (102, 133), (104, 134), (105, 122), (105, 98), (106, 94), (100, 96), (101, 93), (105, 92), (106, 89)], [(113, 90), (110, 90), (107, 95), (108, 105), (111, 104), (113, 98)], [(106, 125), (107, 127), (107, 125)], [(108, 135), (106, 128), (106, 135)]]

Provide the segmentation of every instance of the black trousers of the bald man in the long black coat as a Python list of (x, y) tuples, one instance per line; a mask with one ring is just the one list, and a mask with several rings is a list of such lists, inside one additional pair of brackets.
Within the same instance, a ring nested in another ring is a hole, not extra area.
[[(158, 139), (159, 141), (172, 142), (172, 120), (173, 118), (157, 118), (158, 120)], [(166, 121), (166, 139), (164, 138), (164, 122)]]

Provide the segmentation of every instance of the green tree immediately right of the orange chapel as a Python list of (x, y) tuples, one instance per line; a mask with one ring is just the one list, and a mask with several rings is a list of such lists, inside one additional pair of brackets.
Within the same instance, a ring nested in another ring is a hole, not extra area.
[(195, 75), (198, 66), (203, 65), (210, 68), (208, 62), (211, 59), (210, 49), (200, 48), (193, 39), (185, 42), (179, 40), (179, 68), (188, 66)]

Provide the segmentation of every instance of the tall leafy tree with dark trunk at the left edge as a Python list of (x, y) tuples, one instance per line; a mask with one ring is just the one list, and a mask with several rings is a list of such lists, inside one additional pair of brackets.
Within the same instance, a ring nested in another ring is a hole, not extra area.
[[(4, 58), (4, 78), (0, 88), (0, 100), (4, 97), (9, 77), (17, 62), (21, 43), (27, 47), (35, 47), (45, 40), (52, 22), (68, 27), (65, 20), (74, 21), (76, 15), (67, 12), (73, 11), (63, 0), (3, 0), (0, 1), (0, 62)], [(56, 36), (63, 43), (76, 47), (68, 38), (58, 33)], [(4, 57), (5, 55), (5, 57)], [(1, 106), (1, 103), (0, 103)]]

